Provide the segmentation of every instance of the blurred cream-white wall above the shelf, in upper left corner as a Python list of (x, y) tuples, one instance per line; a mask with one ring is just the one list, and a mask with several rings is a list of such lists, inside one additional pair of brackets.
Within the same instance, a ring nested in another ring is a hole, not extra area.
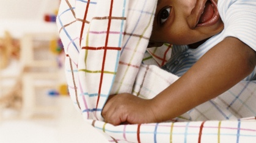
[(0, 37), (5, 30), (16, 38), (29, 32), (57, 32), (56, 24), (43, 18), (58, 5), (59, 0), (0, 0)]

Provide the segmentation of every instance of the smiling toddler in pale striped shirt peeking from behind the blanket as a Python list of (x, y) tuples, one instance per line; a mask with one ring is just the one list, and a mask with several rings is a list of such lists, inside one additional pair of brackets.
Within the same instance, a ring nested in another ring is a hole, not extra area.
[(255, 17), (256, 1), (158, 0), (148, 46), (174, 44), (163, 68), (181, 77), (153, 99), (128, 93), (109, 97), (105, 122), (164, 122), (241, 80), (255, 80)]

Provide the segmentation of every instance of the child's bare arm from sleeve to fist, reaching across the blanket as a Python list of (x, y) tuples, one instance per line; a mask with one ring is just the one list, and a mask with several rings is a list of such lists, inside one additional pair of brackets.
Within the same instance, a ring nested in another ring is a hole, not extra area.
[(232, 88), (249, 75), (255, 65), (256, 52), (237, 38), (227, 37), (155, 98), (114, 96), (106, 103), (103, 117), (114, 125), (172, 119)]

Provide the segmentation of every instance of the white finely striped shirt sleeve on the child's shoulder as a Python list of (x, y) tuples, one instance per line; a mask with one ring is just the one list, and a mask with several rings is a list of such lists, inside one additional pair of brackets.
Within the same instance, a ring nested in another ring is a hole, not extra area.
[(256, 51), (256, 1), (219, 0), (224, 37), (236, 37)]

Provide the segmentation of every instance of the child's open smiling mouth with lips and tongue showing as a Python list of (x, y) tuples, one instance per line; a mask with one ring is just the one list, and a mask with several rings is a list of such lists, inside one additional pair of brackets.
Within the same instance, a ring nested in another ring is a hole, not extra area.
[(219, 19), (217, 4), (213, 0), (208, 0), (202, 11), (199, 13), (196, 26), (210, 26)]

